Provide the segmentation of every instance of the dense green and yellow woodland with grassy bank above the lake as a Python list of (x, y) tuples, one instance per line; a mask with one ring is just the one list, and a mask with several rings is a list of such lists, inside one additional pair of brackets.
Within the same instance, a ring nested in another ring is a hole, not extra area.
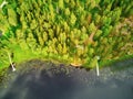
[[(2, 3), (4, 0), (0, 0)], [(32, 58), (93, 68), (133, 56), (133, 0), (6, 0), (0, 67)]]

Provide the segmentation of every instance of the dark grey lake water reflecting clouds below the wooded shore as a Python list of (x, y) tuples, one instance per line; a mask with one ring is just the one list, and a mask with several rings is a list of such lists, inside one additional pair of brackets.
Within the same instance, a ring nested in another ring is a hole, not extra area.
[[(126, 66), (132, 61), (127, 63)], [(31, 68), (32, 65), (40, 69)], [(108, 67), (100, 70), (99, 77), (95, 69), (86, 72), (39, 61), (28, 66), (0, 90), (0, 99), (133, 99), (132, 66), (120, 72)]]

